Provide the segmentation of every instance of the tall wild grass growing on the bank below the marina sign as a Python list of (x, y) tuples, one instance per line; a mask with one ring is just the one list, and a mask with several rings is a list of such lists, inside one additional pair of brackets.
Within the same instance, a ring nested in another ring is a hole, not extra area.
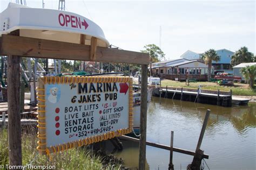
[[(30, 166), (55, 166), (56, 169), (122, 169), (122, 160), (113, 155), (103, 156), (89, 150), (86, 146), (73, 148), (58, 154), (39, 155), (36, 129), (29, 126), (22, 132), (22, 164)], [(0, 165), (8, 165), (8, 130), (0, 129)], [(6, 169), (6, 167), (4, 168)]]

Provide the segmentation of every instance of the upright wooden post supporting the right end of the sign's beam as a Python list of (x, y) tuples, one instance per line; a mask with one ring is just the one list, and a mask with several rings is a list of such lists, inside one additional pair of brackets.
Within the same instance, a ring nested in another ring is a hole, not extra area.
[(140, 102), (139, 169), (145, 169), (147, 128), (147, 65), (142, 65), (142, 91)]

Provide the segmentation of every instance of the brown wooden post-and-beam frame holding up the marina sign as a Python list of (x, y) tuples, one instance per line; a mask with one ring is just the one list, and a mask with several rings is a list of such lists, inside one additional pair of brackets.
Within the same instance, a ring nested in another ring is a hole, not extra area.
[[(19, 30), (16, 30), (19, 31)], [(81, 40), (85, 42), (85, 37), (81, 36)], [(22, 165), (22, 147), (21, 147), (21, 121), (19, 112), (19, 60), (20, 56), (46, 58), (46, 59), (66, 59), (81, 61), (100, 61), (100, 62), (116, 62), (130, 63), (142, 65), (142, 99), (140, 127), (142, 136), (140, 137), (140, 157), (139, 169), (145, 169), (146, 161), (146, 114), (147, 114), (147, 65), (150, 63), (150, 56), (146, 53), (119, 50), (116, 48), (97, 47), (97, 39), (93, 40), (96, 44), (94, 50), (91, 46), (73, 44), (70, 42), (60, 42), (44, 39), (36, 39), (29, 37), (19, 37), (2, 34), (0, 37), (0, 55), (9, 55), (8, 62), (8, 80), (14, 83), (9, 84), (8, 89), (8, 105), (9, 110), (9, 165)], [(97, 49), (96, 49), (97, 47)], [(90, 58), (90, 53), (94, 52), (98, 58)], [(17, 67), (17, 68), (16, 68)], [(11, 85), (12, 84), (12, 85)], [(15, 89), (12, 89), (12, 87)], [(42, 92), (41, 92), (42, 93)], [(43, 107), (39, 106), (39, 107)], [(44, 123), (44, 120), (41, 120)], [(42, 124), (41, 123), (41, 124)], [(42, 132), (41, 137), (44, 138)], [(42, 138), (42, 139), (43, 139)], [(44, 143), (44, 140), (40, 141)], [(13, 150), (11, 150), (13, 148)], [(44, 148), (41, 148), (44, 149)]]

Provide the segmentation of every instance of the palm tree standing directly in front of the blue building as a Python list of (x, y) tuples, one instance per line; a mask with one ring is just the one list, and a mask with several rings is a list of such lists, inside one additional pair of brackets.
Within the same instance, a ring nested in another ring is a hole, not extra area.
[(220, 60), (220, 56), (214, 49), (209, 49), (201, 56), (201, 58), (205, 61), (205, 64), (208, 65), (207, 80), (210, 81), (212, 75), (212, 61), (218, 62)]

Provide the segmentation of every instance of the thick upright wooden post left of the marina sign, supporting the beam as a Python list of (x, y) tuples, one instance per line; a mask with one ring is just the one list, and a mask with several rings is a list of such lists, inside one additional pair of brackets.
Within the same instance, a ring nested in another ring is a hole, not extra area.
[(7, 59), (9, 165), (16, 166), (22, 165), (21, 114), (19, 112), (20, 60), (21, 58), (15, 55), (9, 55)]

